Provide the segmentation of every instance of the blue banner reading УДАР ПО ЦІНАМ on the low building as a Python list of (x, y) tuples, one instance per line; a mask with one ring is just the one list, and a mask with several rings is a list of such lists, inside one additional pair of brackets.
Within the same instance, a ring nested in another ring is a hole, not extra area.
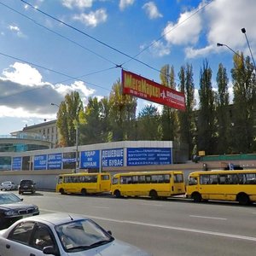
[(100, 168), (100, 150), (82, 151), (80, 168)]

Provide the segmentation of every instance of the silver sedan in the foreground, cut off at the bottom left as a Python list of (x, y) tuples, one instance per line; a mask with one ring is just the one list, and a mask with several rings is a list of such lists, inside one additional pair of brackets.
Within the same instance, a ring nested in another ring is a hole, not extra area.
[(90, 218), (49, 213), (23, 218), (0, 231), (0, 255), (152, 256), (119, 241)]

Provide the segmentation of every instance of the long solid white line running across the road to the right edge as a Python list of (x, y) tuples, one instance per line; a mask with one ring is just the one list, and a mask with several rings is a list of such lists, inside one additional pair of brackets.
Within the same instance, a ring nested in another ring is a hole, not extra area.
[[(48, 209), (41, 209), (47, 212), (57, 212), (57, 211), (51, 211)], [(69, 214), (77, 214), (72, 212), (67, 212)], [(154, 228), (160, 228), (160, 229), (166, 229), (166, 230), (178, 230), (178, 231), (186, 231), (186, 232), (192, 232), (192, 233), (199, 233), (204, 235), (211, 235), (211, 236), (223, 236), (227, 238), (236, 238), (241, 240), (247, 240), (247, 241), (256, 241), (256, 237), (253, 236), (240, 236), (240, 235), (234, 235), (229, 233), (221, 233), (221, 232), (214, 232), (209, 230), (196, 230), (196, 229), (189, 229), (189, 228), (182, 228), (182, 227), (175, 227), (175, 226), (167, 226), (167, 225), (160, 225), (160, 224), (151, 224), (151, 223), (144, 223), (144, 222), (137, 222), (137, 221), (130, 221), (130, 220), (118, 220), (113, 218), (102, 218), (102, 217), (96, 217), (96, 216), (90, 216), (90, 215), (84, 215), (88, 218), (94, 218), (94, 219), (100, 219), (104, 221), (111, 221), (121, 224), (137, 224), (137, 225), (143, 225), (148, 227), (154, 227)]]

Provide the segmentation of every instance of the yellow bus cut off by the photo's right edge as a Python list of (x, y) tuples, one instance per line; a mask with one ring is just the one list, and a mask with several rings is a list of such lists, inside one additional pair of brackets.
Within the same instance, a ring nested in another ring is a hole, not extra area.
[(247, 205), (256, 201), (256, 170), (191, 172), (187, 198), (238, 201)]

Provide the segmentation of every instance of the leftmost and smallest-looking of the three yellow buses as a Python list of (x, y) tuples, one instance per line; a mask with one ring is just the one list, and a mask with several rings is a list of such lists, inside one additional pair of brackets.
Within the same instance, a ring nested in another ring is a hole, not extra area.
[(110, 189), (111, 176), (104, 172), (60, 174), (56, 184), (56, 192), (61, 194), (110, 193)]

